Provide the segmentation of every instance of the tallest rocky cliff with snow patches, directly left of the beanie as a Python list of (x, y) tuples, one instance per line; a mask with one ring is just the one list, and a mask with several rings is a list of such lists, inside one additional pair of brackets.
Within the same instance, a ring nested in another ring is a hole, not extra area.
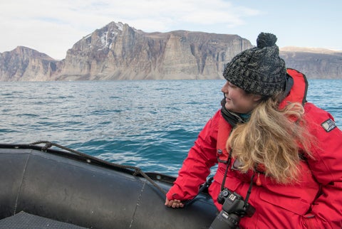
[(68, 50), (58, 80), (221, 78), (224, 63), (252, 45), (239, 36), (172, 31), (144, 33), (109, 23)]

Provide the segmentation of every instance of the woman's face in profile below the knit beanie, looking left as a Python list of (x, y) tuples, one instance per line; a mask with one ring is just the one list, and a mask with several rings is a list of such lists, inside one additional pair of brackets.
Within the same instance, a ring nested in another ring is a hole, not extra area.
[(251, 112), (261, 100), (260, 95), (248, 94), (229, 81), (223, 85), (221, 91), (224, 93), (227, 110), (236, 113), (247, 114)]

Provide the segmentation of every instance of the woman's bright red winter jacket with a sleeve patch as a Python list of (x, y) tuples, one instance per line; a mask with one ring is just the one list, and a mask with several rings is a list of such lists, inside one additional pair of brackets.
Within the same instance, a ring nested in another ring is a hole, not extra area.
[[(288, 73), (294, 78), (294, 87), (286, 101), (302, 102), (305, 100), (305, 77), (296, 70), (288, 70)], [(342, 228), (342, 132), (334, 125), (328, 112), (309, 102), (304, 109), (309, 130), (317, 138), (313, 151), (315, 159), (301, 162), (301, 183), (276, 184), (259, 174), (261, 185), (257, 185), (258, 176), (254, 176), (249, 203), (256, 211), (252, 218), (242, 218), (240, 228)], [(222, 157), (222, 154), (217, 154), (219, 123), (222, 120), (218, 111), (199, 133), (175, 185), (167, 193), (168, 199), (185, 201), (194, 198), (199, 186), (209, 176), (210, 168), (218, 163), (209, 193), (221, 211), (222, 205), (217, 203), (217, 196), (227, 168), (227, 164), (217, 160)], [(226, 126), (230, 127), (227, 123)], [(252, 174), (252, 171), (242, 174), (229, 166), (224, 186), (245, 198)]]

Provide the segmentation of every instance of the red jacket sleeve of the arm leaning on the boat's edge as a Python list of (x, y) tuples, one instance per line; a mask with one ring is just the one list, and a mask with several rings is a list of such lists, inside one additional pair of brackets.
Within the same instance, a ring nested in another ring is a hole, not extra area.
[(194, 146), (183, 161), (174, 185), (167, 192), (167, 199), (186, 201), (194, 198), (199, 186), (210, 174), (210, 168), (217, 163), (217, 129), (220, 116), (218, 111), (199, 133)]

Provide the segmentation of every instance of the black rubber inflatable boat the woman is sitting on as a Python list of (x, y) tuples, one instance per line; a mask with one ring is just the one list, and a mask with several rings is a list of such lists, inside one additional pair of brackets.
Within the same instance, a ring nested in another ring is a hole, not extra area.
[(216, 216), (205, 186), (167, 208), (174, 177), (43, 143), (0, 144), (0, 228), (209, 228)]

